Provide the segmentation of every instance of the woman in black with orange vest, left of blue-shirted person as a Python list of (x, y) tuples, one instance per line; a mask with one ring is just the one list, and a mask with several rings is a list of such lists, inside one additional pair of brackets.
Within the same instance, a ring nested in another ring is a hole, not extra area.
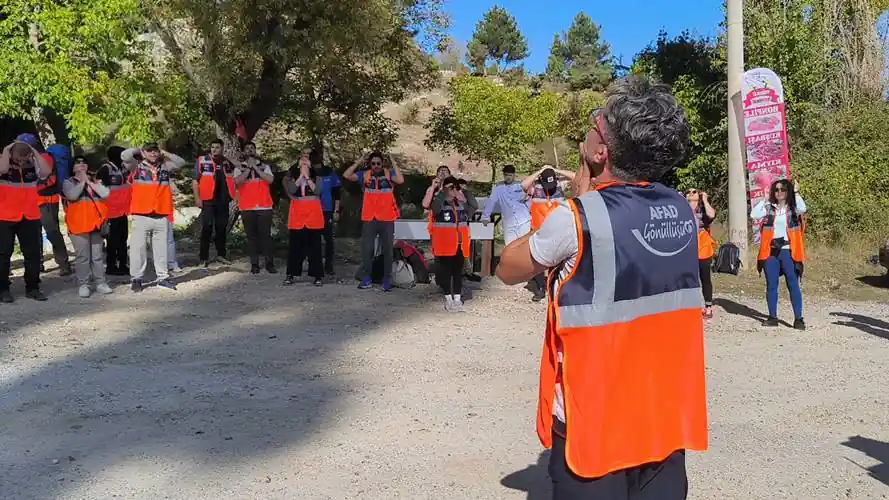
[(302, 276), (303, 262), (309, 260), (309, 276), (315, 286), (324, 284), (324, 266), (321, 262), (321, 233), (324, 231), (324, 210), (321, 197), (316, 192), (316, 177), (308, 154), (290, 167), (284, 176), (284, 191), (290, 197), (290, 213), (287, 228), (290, 244), (287, 252), (287, 277), (285, 285), (292, 285)]

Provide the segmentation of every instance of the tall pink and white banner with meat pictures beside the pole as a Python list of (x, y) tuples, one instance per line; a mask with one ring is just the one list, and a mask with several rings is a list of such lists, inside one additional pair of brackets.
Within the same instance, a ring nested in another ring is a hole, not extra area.
[[(742, 75), (744, 144), (750, 206), (769, 197), (777, 179), (790, 177), (787, 115), (784, 88), (774, 71), (756, 68)], [(759, 243), (759, 223), (753, 223), (753, 241)]]

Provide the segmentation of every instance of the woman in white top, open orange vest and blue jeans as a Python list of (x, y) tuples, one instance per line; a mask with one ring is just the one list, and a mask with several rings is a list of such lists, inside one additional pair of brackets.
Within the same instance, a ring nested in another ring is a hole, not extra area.
[(793, 307), (793, 327), (805, 330), (803, 293), (799, 280), (806, 261), (803, 233), (806, 202), (799, 195), (796, 182), (779, 179), (769, 189), (769, 199), (762, 200), (750, 211), (750, 218), (761, 221), (759, 255), (756, 269), (766, 273), (766, 304), (769, 317), (765, 326), (778, 326), (778, 281), (784, 275), (790, 304)]

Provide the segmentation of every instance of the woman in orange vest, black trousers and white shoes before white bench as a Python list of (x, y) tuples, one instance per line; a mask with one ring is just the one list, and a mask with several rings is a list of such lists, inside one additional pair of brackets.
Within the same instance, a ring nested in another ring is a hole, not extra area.
[[(429, 237), (436, 261), (436, 282), (442, 285), (445, 311), (463, 310), (463, 266), (471, 243), (469, 221), (478, 210), (472, 193), (462, 189), (455, 177), (441, 181), (441, 190), (429, 206)], [(427, 196), (430, 193), (427, 192)]]

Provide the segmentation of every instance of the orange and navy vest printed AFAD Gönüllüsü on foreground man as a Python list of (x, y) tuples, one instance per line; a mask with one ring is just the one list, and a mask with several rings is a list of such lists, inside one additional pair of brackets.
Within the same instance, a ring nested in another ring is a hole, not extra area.
[(688, 203), (660, 184), (610, 183), (571, 209), (577, 259), (560, 282), (558, 269), (550, 273), (541, 443), (552, 446), (560, 383), (565, 460), (578, 476), (706, 450), (703, 300)]

